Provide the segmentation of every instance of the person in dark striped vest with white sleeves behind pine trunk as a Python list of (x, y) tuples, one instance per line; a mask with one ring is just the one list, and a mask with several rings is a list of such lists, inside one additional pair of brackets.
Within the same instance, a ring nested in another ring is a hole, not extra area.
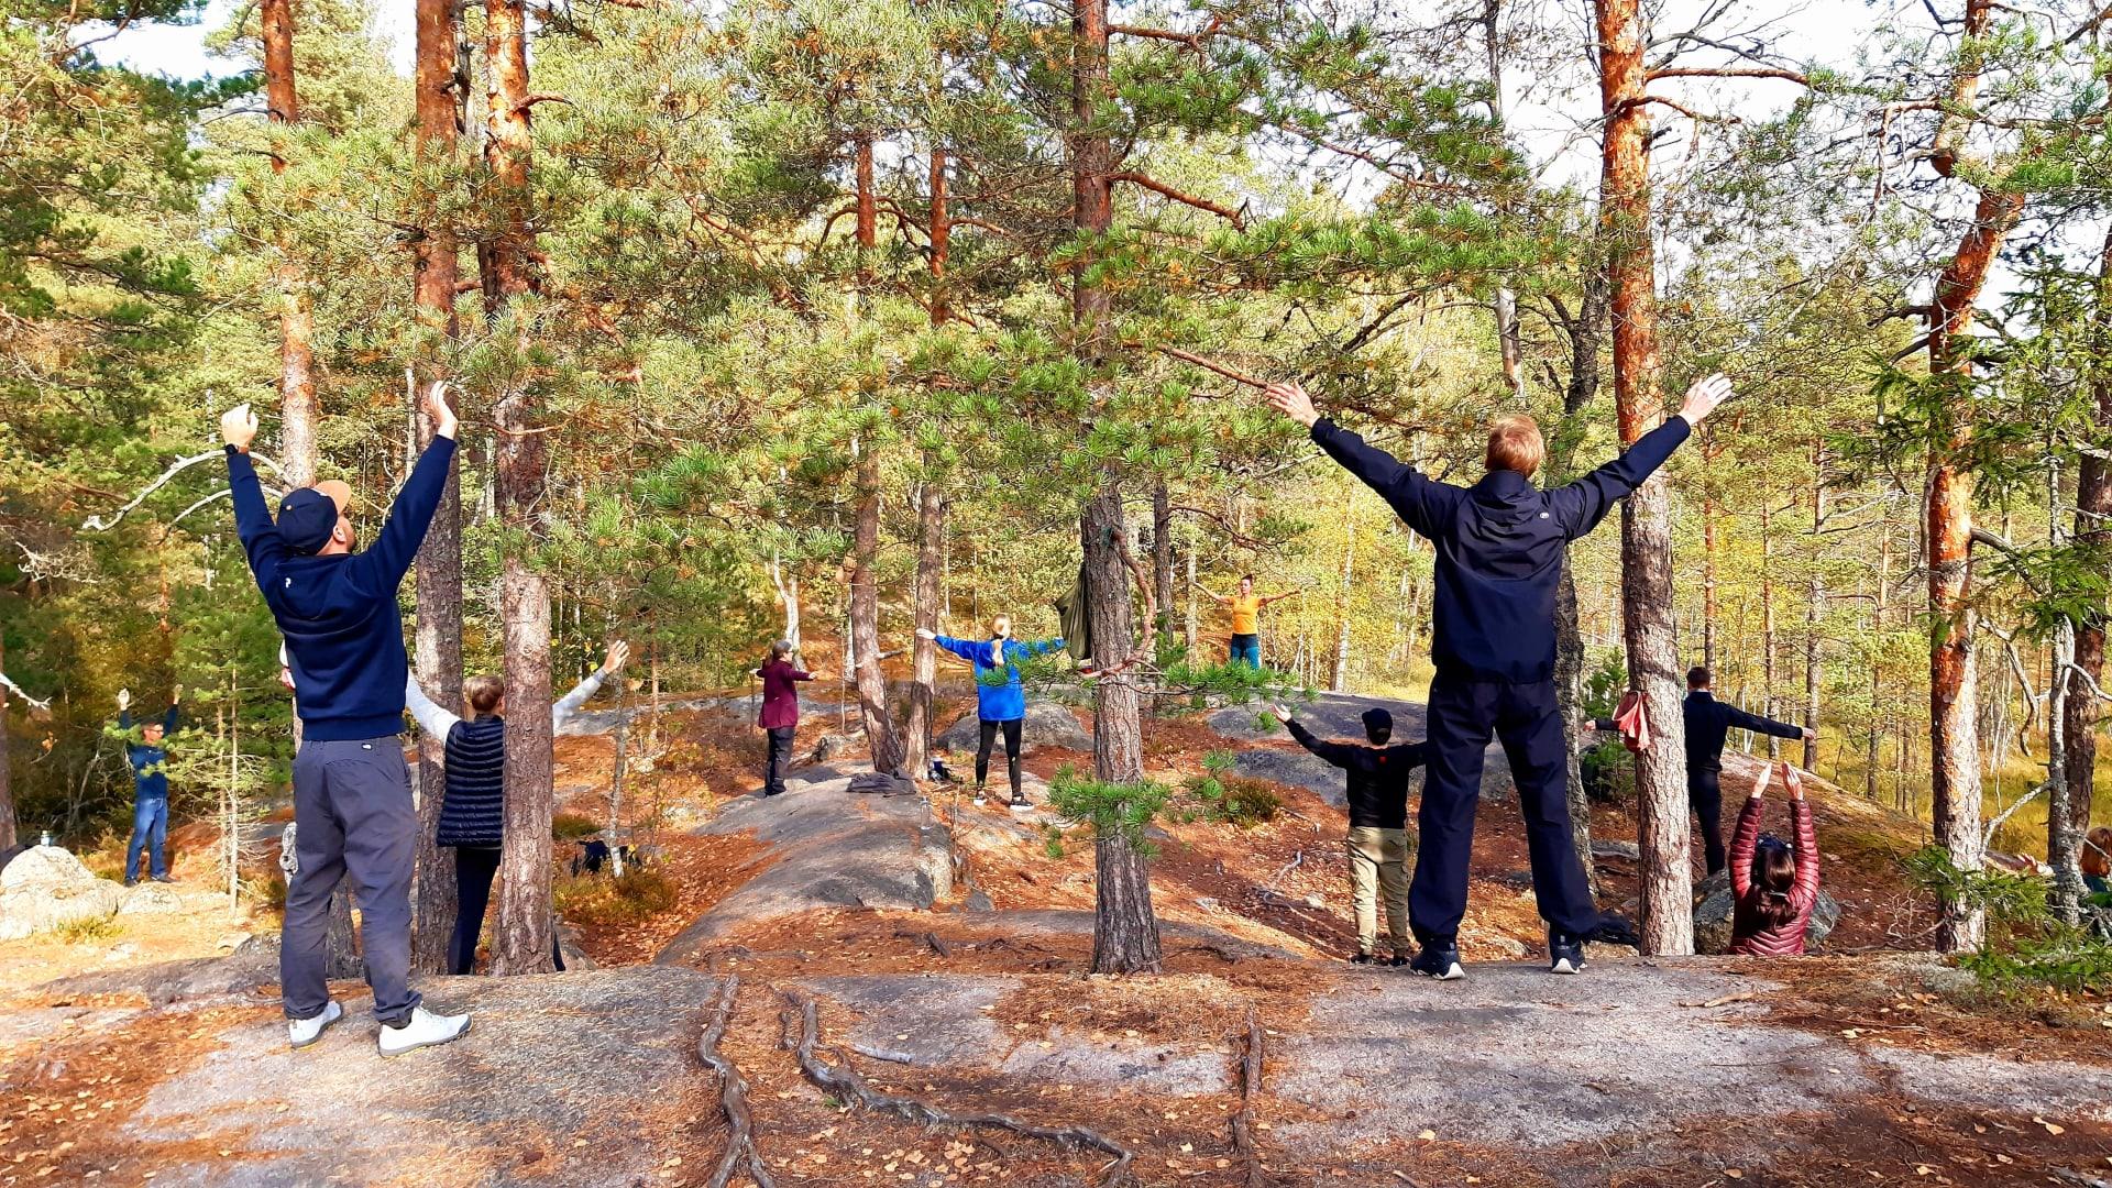
[[(549, 708), (551, 729), (562, 729), (629, 655), (627, 643), (610, 645), (608, 660)], [(477, 964), (477, 939), (484, 932), (484, 909), (492, 901), (507, 820), (507, 719), (503, 717), (507, 685), (498, 676), (475, 676), (463, 687), (463, 695), (475, 712), (467, 721), (435, 706), (416, 679), (403, 687), (403, 700), (418, 727), (446, 746), (448, 784), (439, 799), (435, 841), (454, 850), (458, 907), (454, 939), (448, 941), (448, 972), (454, 974), (467, 974)], [(564, 968), (564, 958), (558, 958), (558, 968)]]

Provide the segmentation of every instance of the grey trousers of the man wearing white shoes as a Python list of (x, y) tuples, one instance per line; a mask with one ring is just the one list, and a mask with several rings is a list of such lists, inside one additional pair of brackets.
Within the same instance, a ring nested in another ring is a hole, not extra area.
[(359, 896), (359, 947), (374, 987), (374, 1017), (410, 1019), (410, 871), (418, 852), (418, 810), (410, 767), (395, 736), (302, 742), (294, 757), (294, 852), (300, 869), (285, 888), (279, 932), (279, 989), (287, 1019), (329, 1006), (329, 896), (346, 875)]

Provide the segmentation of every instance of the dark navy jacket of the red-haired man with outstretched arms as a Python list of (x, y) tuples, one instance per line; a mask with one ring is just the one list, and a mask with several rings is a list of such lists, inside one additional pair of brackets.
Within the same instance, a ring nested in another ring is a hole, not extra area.
[(1430, 660), (1447, 676), (1535, 683), (1554, 676), (1554, 590), (1569, 541), (1652, 476), (1692, 427), (1683, 416), (1554, 490), (1497, 469), (1474, 486), (1436, 482), (1328, 419), (1312, 438), (1436, 545)]

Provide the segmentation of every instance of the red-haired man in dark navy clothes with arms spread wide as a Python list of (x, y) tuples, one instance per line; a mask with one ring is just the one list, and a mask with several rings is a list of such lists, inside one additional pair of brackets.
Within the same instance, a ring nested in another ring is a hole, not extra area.
[[(1709, 376), (1687, 389), (1679, 416), (1645, 433), (1592, 474), (1540, 490), (1546, 457), (1531, 416), (1504, 416), (1489, 431), (1487, 467), (1474, 486), (1434, 482), (1322, 419), (1305, 389), (1269, 389), (1269, 404), (1312, 429), (1312, 440), (1377, 490), (1436, 552), (1430, 641), (1430, 776), (1417, 814), (1421, 852), (1409, 886), (1409, 917), (1421, 951), (1411, 968), (1462, 977), (1459, 920), (1474, 848), (1481, 763), (1495, 731), (1519, 784), (1533, 894), (1548, 922), (1548, 966), (1584, 968), (1584, 941), (1618, 934), (1605, 920), (1571, 843), (1567, 742), (1554, 698), (1554, 592), (1569, 541), (1605, 520), (1730, 395)], [(1633, 934), (1633, 930), (1628, 930)]]

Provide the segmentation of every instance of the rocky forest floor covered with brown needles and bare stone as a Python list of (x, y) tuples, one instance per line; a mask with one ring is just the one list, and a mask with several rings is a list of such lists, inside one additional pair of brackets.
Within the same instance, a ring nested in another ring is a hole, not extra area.
[[(1468, 981), (1350, 966), (1343, 814), (1271, 784), (1282, 808), (1263, 824), (1172, 814), (1151, 867), (1166, 972), (1107, 979), (1086, 972), (1081, 835), (953, 788), (927, 805), (824, 778), (754, 797), (750, 721), (743, 704), (663, 714), (670, 746), (623, 793), (629, 820), (657, 822), (644, 837), (663, 894), (570, 920), (598, 972), (429, 979), (437, 1006), (477, 1017), (448, 1048), (382, 1061), (365, 989), (346, 983), (346, 1023), (287, 1053), (270, 920), (215, 958), (224, 896), (201, 892), (152, 936), (129, 924), (0, 945), (0, 1188), (708, 1184), (729, 1129), (697, 1042), (729, 977), (720, 1053), (748, 1080), (775, 1184), (1124, 1171), (1001, 1122), (847, 1108), (786, 1046), (805, 1002), (815, 1061), (940, 1112), (1092, 1131), (1140, 1184), (2112, 1182), (2112, 1004), (2004, 1000), (1916, 951), (1932, 905), (1897, 858), (1922, 829), (1840, 788), (1812, 793), (1844, 905), (1825, 955), (1595, 949), (1584, 977), (1546, 974), (1516, 803), (1491, 786)], [(834, 725), (811, 708), (800, 750)], [(631, 731), (636, 748), (644, 723)], [(1147, 731), (1151, 774), (1170, 784), (1208, 750), (1286, 746), (1227, 740), (1200, 717)], [(606, 818), (610, 740), (558, 750), (566, 808)], [(1031, 755), (1031, 791), (1088, 761)], [(1726, 784), (1745, 778), (1732, 757)], [(1592, 833), (1633, 841), (1635, 822), (1599, 805)], [(1607, 905), (1633, 896), (1633, 862), (1605, 858), (1597, 875)], [(1250, 1144), (1233, 1137), (1242, 1110)]]

